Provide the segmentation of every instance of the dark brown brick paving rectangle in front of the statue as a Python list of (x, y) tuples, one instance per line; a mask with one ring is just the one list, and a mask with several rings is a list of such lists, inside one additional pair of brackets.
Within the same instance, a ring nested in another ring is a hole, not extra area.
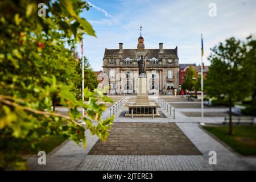
[(114, 123), (88, 155), (201, 155), (175, 123)]

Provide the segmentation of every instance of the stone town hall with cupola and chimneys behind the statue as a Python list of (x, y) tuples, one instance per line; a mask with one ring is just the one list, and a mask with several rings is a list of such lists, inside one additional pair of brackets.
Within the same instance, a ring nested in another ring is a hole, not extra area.
[(146, 56), (148, 94), (174, 93), (179, 90), (179, 58), (177, 47), (147, 49), (142, 36), (135, 49), (105, 49), (103, 57), (104, 87), (109, 86), (109, 94), (137, 93), (138, 60)]

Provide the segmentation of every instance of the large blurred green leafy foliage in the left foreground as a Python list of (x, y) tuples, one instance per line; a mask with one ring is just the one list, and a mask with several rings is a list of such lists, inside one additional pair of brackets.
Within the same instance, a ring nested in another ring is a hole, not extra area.
[[(38, 14), (42, 2), (45, 16)], [(80, 17), (83, 9), (89, 10), (89, 5), (80, 0), (0, 2), (0, 169), (26, 169), (20, 147), (28, 143), (39, 151), (38, 143), (51, 135), (84, 147), (85, 130), (104, 141), (108, 137), (114, 118), (103, 120), (106, 106), (97, 101), (113, 101), (97, 89), (85, 88), (86, 103), (77, 97), (79, 61), (65, 46), (75, 46), (84, 33), (95, 36)], [(55, 98), (68, 107), (68, 115), (52, 111)], [(85, 109), (85, 117), (79, 107)]]

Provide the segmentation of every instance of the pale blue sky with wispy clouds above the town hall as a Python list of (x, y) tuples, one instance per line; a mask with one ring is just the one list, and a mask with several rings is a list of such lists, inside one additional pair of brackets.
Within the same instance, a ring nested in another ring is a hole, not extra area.
[[(256, 35), (255, 0), (90, 0), (90, 10), (81, 13), (97, 38), (84, 35), (84, 54), (94, 71), (102, 70), (105, 48), (137, 48), (142, 26), (145, 48), (173, 49), (179, 63), (201, 63), (201, 34), (205, 65), (210, 48), (234, 36), (245, 40)], [(214, 14), (214, 3), (216, 11)], [(209, 15), (210, 13), (210, 15)], [(214, 15), (214, 16), (213, 16)], [(80, 47), (77, 51), (81, 53)]]

